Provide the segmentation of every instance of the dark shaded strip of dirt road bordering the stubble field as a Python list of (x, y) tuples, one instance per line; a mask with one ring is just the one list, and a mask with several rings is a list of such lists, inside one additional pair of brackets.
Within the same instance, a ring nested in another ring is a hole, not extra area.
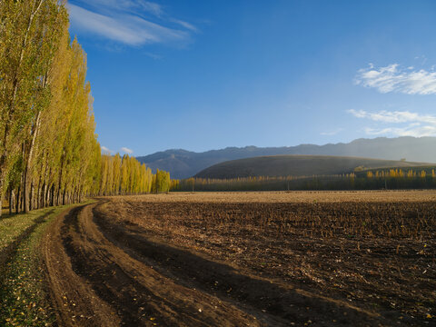
[(242, 273), (202, 254), (161, 243), (140, 226), (114, 223), (114, 219), (99, 211), (98, 206), (94, 210), (94, 221), (111, 242), (132, 257), (154, 266), (156, 271), (185, 287), (211, 293), (223, 302), (232, 302), (264, 325), (389, 325), (378, 313), (289, 284)]

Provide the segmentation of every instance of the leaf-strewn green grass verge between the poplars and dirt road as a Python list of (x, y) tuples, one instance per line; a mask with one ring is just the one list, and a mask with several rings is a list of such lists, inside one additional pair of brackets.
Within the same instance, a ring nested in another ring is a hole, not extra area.
[(54, 324), (54, 312), (45, 292), (39, 244), (47, 225), (67, 207), (38, 210), (0, 221), (0, 244), (3, 248), (16, 242), (16, 238), (20, 238), (29, 228), (32, 229), (32, 233), (16, 244), (5, 266), (0, 267), (0, 326)]

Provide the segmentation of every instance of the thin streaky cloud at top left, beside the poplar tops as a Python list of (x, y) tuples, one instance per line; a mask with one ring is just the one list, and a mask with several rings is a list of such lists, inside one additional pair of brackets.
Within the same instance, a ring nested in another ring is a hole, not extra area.
[(124, 45), (183, 45), (196, 31), (192, 24), (166, 15), (161, 5), (149, 1), (76, 0), (68, 8), (76, 28)]

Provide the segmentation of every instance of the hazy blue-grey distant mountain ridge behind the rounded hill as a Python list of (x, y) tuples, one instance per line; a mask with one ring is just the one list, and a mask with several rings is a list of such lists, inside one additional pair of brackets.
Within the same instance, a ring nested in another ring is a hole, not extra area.
[(192, 177), (216, 163), (279, 154), (357, 156), (383, 160), (406, 159), (410, 162), (436, 163), (436, 137), (378, 137), (357, 139), (348, 144), (301, 144), (282, 147), (227, 147), (194, 153), (186, 150), (166, 150), (136, 157), (153, 171), (163, 169), (172, 178)]

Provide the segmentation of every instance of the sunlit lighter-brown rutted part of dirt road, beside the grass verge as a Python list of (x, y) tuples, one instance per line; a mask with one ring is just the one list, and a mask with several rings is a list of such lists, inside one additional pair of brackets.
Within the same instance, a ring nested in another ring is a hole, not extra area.
[(60, 325), (261, 325), (233, 304), (177, 284), (109, 242), (94, 223), (94, 206), (61, 215), (43, 243)]

